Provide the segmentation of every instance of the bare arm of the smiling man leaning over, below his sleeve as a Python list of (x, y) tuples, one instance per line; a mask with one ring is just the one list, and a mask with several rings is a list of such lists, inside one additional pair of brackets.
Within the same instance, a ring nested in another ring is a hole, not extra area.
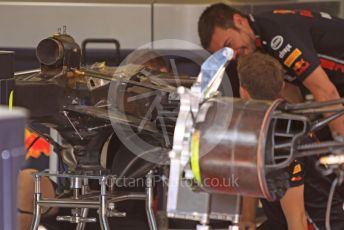
[[(312, 93), (316, 101), (329, 101), (339, 99), (339, 93), (336, 87), (328, 78), (326, 72), (318, 66), (304, 81), (304, 86)], [(342, 108), (343, 106), (329, 106), (328, 108)], [(328, 116), (330, 114), (325, 114)], [(330, 124), (332, 136), (344, 135), (344, 116), (337, 118)]]

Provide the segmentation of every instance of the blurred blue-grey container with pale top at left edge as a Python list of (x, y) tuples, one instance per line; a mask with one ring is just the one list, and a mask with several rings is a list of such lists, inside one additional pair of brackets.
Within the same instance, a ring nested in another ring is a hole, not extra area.
[(16, 230), (17, 175), (24, 161), (24, 109), (0, 106), (0, 229)]

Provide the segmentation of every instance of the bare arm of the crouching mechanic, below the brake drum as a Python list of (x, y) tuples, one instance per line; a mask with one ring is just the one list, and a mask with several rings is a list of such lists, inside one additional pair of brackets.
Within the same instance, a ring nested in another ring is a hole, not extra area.
[(304, 185), (289, 188), (280, 200), (289, 230), (307, 230), (308, 228), (303, 191)]

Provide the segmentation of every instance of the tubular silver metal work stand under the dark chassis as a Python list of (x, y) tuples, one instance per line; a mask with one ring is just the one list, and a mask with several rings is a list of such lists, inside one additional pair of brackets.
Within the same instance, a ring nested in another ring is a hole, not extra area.
[[(68, 178), (73, 195), (69, 198), (48, 199), (42, 197), (41, 177), (55, 176), (57, 178)], [(153, 172), (150, 171), (146, 177), (146, 193), (116, 193), (114, 175), (87, 175), (75, 173), (48, 173), (46, 171), (34, 174), (35, 194), (34, 212), (31, 230), (37, 230), (41, 219), (42, 207), (64, 207), (71, 208), (71, 216), (58, 216), (57, 221), (76, 223), (76, 230), (84, 230), (87, 223), (96, 222), (96, 218), (87, 217), (89, 209), (97, 209), (100, 227), (109, 230), (109, 217), (125, 217), (126, 213), (118, 212), (115, 208), (116, 202), (125, 200), (145, 200), (146, 212), (151, 230), (157, 230), (157, 224), (152, 209), (153, 202)], [(90, 190), (89, 180), (98, 180), (100, 191)]]

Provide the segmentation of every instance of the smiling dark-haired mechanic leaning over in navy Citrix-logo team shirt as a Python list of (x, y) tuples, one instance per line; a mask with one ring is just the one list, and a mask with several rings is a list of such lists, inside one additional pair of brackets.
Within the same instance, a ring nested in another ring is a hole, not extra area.
[[(236, 57), (266, 52), (283, 65), (285, 80), (305, 86), (316, 101), (344, 95), (343, 28), (344, 20), (325, 12), (273, 10), (247, 16), (222, 3), (205, 9), (198, 22), (205, 49), (231, 47)], [(330, 128), (332, 136), (344, 135), (344, 117)]]

